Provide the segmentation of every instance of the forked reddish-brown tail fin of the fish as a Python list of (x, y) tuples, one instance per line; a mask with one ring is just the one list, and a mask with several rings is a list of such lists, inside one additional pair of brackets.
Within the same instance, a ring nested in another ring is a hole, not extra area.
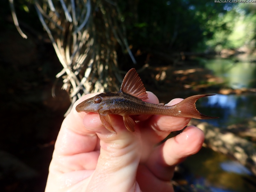
[(215, 94), (206, 94), (206, 95), (194, 95), (191, 97), (188, 97), (184, 100), (182, 100), (180, 103), (177, 103), (175, 105), (175, 108), (177, 109), (177, 115), (179, 117), (191, 117), (195, 119), (212, 119), (212, 118), (219, 118), (219, 117), (211, 117), (211, 116), (206, 116), (202, 113), (200, 113), (196, 109), (196, 101), (201, 98), (201, 97), (206, 97), (206, 96), (212, 96)]

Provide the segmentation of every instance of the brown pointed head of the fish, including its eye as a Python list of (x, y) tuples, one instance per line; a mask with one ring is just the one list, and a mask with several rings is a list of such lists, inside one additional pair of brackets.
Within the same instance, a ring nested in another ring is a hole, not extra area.
[(105, 110), (108, 110), (109, 98), (107, 93), (100, 93), (94, 97), (91, 97), (83, 102), (79, 103), (76, 106), (77, 112), (93, 112), (101, 113)]

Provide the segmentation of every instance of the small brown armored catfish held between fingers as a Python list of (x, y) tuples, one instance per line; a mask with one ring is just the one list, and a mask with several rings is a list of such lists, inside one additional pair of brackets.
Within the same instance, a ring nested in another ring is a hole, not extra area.
[(213, 94), (194, 95), (172, 106), (142, 101), (148, 99), (148, 93), (138, 73), (132, 68), (125, 75), (119, 92), (104, 92), (84, 100), (76, 106), (76, 111), (99, 113), (102, 124), (110, 132), (115, 132), (115, 130), (109, 114), (121, 115), (125, 127), (134, 132), (135, 121), (130, 117), (131, 115), (168, 115), (196, 119), (218, 118), (203, 115), (196, 109), (196, 100), (211, 95)]

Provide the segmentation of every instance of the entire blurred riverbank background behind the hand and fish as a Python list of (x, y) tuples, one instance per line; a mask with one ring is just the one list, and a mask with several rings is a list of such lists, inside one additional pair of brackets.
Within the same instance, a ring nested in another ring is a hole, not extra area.
[(69, 107), (117, 91), (131, 68), (162, 103), (217, 94), (196, 103), (220, 118), (191, 120), (205, 143), (175, 191), (256, 191), (256, 4), (218, 2), (1, 2), (0, 191), (44, 191)]

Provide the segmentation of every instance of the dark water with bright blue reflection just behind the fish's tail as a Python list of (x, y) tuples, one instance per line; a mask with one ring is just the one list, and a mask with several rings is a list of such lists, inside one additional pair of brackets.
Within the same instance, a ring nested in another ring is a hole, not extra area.
[(256, 94), (222, 95), (202, 98), (197, 101), (197, 108), (203, 114), (217, 116), (218, 119), (204, 121), (214, 126), (225, 128), (256, 116)]

